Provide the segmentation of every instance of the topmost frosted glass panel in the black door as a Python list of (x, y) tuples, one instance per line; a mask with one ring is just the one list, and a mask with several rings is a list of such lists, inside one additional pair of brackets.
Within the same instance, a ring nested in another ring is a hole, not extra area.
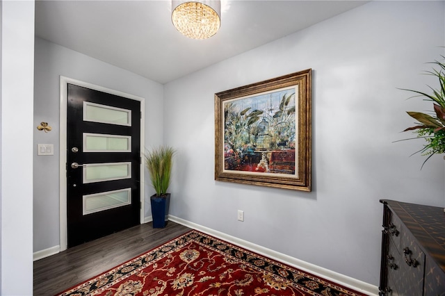
[(83, 101), (83, 120), (131, 126), (131, 110)]

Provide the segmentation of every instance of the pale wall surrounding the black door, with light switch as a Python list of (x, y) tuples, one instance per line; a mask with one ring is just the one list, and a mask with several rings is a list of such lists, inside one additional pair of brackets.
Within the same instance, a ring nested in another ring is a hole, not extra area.
[[(40, 38), (35, 39), (34, 252), (59, 245), (59, 76), (119, 90), (145, 99), (145, 147), (163, 142), (163, 85)], [(35, 126), (48, 122), (52, 131)], [(37, 144), (54, 144), (54, 156), (37, 156)], [(145, 196), (154, 190), (145, 184)], [(149, 212), (145, 203), (145, 216)]]

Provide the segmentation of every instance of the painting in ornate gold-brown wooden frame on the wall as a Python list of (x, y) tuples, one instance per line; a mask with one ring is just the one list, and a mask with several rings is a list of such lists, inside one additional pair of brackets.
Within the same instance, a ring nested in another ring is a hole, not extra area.
[(215, 94), (215, 180), (311, 191), (312, 69)]

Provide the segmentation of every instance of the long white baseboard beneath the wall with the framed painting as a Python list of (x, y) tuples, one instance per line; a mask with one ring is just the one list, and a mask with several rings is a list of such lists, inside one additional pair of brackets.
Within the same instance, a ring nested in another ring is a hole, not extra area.
[(252, 242), (248, 242), (247, 240), (241, 240), (240, 238), (236, 238), (234, 236), (229, 236), (226, 233), (222, 233), (220, 231), (216, 231), (210, 229), (208, 227), (204, 227), (200, 224), (196, 224), (179, 217), (175, 217), (169, 215), (169, 219), (172, 222), (184, 225), (191, 229), (196, 229), (203, 233), (207, 233), (216, 238), (220, 238), (222, 240), (226, 240), (227, 242), (232, 242), (234, 245), (238, 245), (245, 249), (248, 249), (252, 252), (256, 252), (258, 254), (267, 256), (269, 258), (273, 258), (276, 261), (280, 261), (284, 264), (291, 265), (294, 268), (298, 268), (305, 272), (309, 272), (311, 274), (316, 275), (317, 277), (322, 277), (323, 279), (327, 279), (328, 281), (332, 281), (334, 283), (338, 283), (341, 286), (345, 286), (351, 288), (353, 290), (357, 290), (359, 292), (365, 293), (367, 295), (375, 295), (378, 296), (379, 290), (377, 286), (373, 286), (370, 283), (365, 283), (364, 281), (359, 281), (358, 279), (354, 279), (352, 277), (348, 277), (344, 274), (340, 274), (338, 272), (334, 272), (332, 270), (327, 270), (326, 268), (322, 268), (318, 265), (314, 265), (312, 263), (307, 263), (297, 258), (293, 258), (286, 254), (282, 254), (280, 252), (275, 252), (272, 249), (268, 249), (266, 247), (261, 247), (260, 245), (255, 245)]

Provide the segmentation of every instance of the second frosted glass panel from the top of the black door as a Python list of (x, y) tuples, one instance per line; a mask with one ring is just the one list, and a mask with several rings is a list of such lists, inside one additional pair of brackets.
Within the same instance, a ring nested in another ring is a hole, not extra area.
[(131, 136), (83, 133), (83, 152), (131, 152)]

